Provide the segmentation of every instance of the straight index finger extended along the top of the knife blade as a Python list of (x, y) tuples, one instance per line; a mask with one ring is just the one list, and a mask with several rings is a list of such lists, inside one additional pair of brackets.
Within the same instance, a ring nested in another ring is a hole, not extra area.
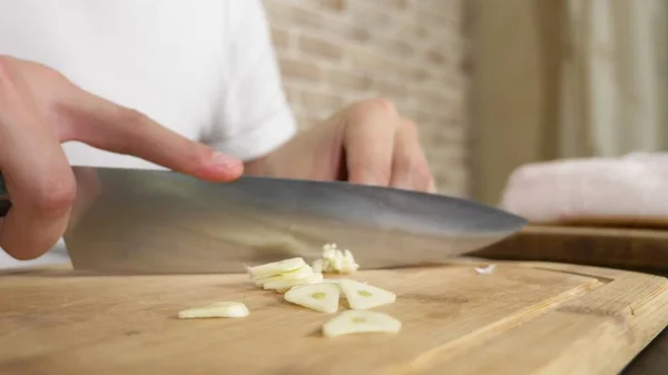
[[(82, 90), (61, 110), (72, 124), (72, 140), (126, 154), (212, 181), (229, 181), (244, 171), (240, 160), (163, 127), (143, 114)], [(75, 100), (72, 100), (75, 99)]]

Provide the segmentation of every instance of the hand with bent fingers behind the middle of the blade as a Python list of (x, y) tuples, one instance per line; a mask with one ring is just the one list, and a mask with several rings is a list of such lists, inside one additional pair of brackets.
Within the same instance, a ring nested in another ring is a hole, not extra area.
[(343, 109), (247, 164), (246, 172), (436, 193), (415, 124), (385, 99)]

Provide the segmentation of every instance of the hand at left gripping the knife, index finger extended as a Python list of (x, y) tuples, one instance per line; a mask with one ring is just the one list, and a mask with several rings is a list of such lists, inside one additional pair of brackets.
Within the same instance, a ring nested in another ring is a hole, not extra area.
[(234, 180), (244, 168), (52, 69), (0, 55), (0, 171), (12, 201), (0, 247), (17, 259), (45, 254), (67, 228), (77, 187), (60, 146), (69, 140), (210, 181)]

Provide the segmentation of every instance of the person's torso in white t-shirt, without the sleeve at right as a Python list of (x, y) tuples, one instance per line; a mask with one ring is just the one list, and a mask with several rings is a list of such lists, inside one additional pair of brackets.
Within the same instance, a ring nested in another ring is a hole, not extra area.
[[(0, 55), (47, 65), (199, 139), (227, 78), (228, 17), (223, 0), (0, 0)], [(155, 167), (81, 144), (65, 149), (73, 165)]]

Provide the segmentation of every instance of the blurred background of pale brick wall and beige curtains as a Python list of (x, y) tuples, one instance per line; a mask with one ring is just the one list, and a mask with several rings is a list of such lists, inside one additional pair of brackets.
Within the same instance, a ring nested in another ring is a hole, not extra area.
[(264, 0), (302, 128), (386, 97), (443, 194), (523, 164), (668, 150), (668, 1)]

